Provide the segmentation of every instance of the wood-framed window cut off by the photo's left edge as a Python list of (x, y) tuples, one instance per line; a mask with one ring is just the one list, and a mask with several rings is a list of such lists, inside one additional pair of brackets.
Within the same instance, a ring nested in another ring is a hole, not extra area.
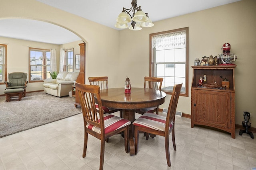
[(4, 84), (7, 81), (6, 66), (7, 66), (7, 45), (0, 44), (0, 84)]

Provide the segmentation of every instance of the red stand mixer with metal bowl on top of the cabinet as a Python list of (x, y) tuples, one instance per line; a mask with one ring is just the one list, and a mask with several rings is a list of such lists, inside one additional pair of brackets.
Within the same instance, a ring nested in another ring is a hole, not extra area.
[(220, 66), (227, 66), (227, 65), (236, 65), (234, 62), (237, 59), (236, 54), (230, 53), (231, 46), (229, 43), (225, 43), (222, 45), (223, 53), (219, 54), (218, 59), (220, 60)]

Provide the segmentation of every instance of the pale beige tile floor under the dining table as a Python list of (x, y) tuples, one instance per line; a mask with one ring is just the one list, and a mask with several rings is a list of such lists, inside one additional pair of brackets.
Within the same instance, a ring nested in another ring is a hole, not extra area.
[[(105, 145), (104, 170), (252, 170), (256, 139), (238, 133), (232, 139), (229, 133), (191, 128), (190, 119), (176, 117), (177, 150), (170, 135), (171, 167), (166, 163), (163, 137), (146, 141), (140, 134), (138, 154), (130, 156), (124, 151), (123, 138), (115, 135)], [(86, 158), (82, 158), (83, 135), (79, 114), (0, 138), (0, 170), (98, 170), (100, 141), (89, 136)]]

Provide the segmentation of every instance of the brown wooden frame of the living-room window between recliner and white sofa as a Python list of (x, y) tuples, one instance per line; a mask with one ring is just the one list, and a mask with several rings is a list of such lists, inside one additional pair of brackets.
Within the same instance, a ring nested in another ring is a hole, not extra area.
[[(46, 71), (46, 73), (45, 73), (45, 75), (43, 76), (43, 77), (46, 77), (46, 79), (40, 79), (40, 80), (31, 80), (31, 61), (30, 61), (30, 54), (31, 54), (31, 51), (41, 51), (41, 52), (43, 52), (43, 51), (46, 51), (46, 52), (50, 52), (50, 49), (40, 49), (40, 48), (33, 48), (33, 47), (29, 47), (28, 48), (29, 49), (29, 54), (28, 54), (28, 82), (30, 82), (30, 83), (33, 83), (33, 82), (44, 82), (44, 80), (46, 80), (47, 79), (47, 77), (49, 77), (50, 78), (50, 73), (48, 73), (47, 71)], [(51, 60), (51, 59), (50, 59)], [(47, 61), (46, 61), (47, 62)], [(35, 64), (36, 65), (36, 64)], [(40, 66), (49, 66), (49, 65), (44, 65), (44, 64), (40, 64)], [(51, 65), (50, 65), (51, 66)], [(46, 67), (47, 68), (47, 67)], [(47, 70), (47, 69), (46, 69)], [(49, 76), (47, 76), (46, 74), (49, 74)]]

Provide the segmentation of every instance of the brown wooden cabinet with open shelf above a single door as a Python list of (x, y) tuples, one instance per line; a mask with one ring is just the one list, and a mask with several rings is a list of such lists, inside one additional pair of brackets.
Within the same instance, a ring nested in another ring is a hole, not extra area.
[[(235, 83), (232, 66), (192, 66), (191, 127), (205, 125), (227, 131), (235, 138)], [(229, 88), (205, 88), (198, 86), (200, 77), (206, 75), (206, 83), (222, 84), (228, 79)]]

